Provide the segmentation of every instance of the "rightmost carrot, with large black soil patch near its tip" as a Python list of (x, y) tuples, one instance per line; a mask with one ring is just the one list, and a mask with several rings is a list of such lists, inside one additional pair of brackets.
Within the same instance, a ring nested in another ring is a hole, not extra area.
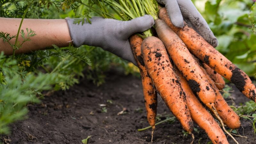
[(221, 76), (234, 83), (247, 98), (255, 101), (256, 87), (244, 71), (237, 68), (231, 61), (214, 49), (193, 28), (189, 27), (186, 22), (184, 22), (183, 28), (177, 28), (172, 25), (165, 8), (159, 10), (158, 16), (180, 37), (190, 52)]

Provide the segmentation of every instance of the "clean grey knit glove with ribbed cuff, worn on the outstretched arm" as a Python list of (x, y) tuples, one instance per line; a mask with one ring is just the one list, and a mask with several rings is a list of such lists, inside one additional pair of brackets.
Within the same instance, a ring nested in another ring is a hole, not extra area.
[(69, 33), (75, 47), (81, 45), (99, 46), (102, 49), (128, 60), (133, 64), (133, 57), (129, 37), (136, 32), (143, 32), (154, 25), (150, 15), (144, 15), (130, 21), (104, 19), (93, 17), (92, 24), (74, 24), (75, 19), (66, 18)]

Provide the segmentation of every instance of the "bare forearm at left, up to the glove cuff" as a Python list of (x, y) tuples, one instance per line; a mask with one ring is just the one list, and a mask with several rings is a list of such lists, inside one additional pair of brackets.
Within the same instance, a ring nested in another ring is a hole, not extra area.
[[(10, 33), (10, 35), (17, 35), (21, 19), (14, 18), (0, 18), (0, 31)], [(15, 53), (26, 53), (36, 50), (44, 50), (46, 47), (52, 47), (55, 44), (59, 47), (66, 47), (71, 42), (68, 25), (64, 19), (24, 19), (21, 29), (24, 29), (25, 36), (27, 34), (26, 28), (32, 29), (36, 32), (35, 36), (30, 37), (31, 41), (25, 42), (19, 50)], [(18, 41), (22, 42), (21, 36)], [(15, 43), (15, 38), (10, 41)], [(0, 51), (5, 54), (12, 54), (12, 48), (8, 43), (4, 43), (0, 39)]]

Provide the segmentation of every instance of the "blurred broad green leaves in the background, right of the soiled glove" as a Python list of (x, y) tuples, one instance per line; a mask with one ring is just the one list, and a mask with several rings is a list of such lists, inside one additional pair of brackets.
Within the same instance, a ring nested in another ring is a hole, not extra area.
[(253, 3), (252, 0), (207, 0), (201, 12), (219, 41), (216, 49), (249, 76), (256, 72)]

